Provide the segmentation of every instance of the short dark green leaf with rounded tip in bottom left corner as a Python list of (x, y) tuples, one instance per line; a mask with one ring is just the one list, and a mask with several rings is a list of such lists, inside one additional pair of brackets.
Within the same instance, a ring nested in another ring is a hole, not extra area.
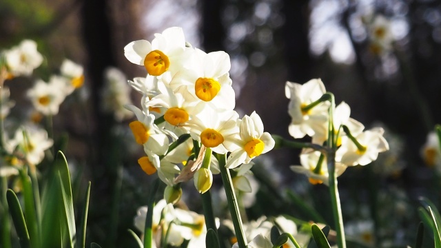
[(19, 236), (20, 247), (31, 247), (28, 228), (26, 227), (25, 218), (23, 217), (23, 211), (21, 211), (19, 198), (17, 198), (17, 195), (12, 189), (8, 189), (8, 192), (6, 192), (6, 199), (8, 200), (9, 212), (12, 216), (17, 236)]

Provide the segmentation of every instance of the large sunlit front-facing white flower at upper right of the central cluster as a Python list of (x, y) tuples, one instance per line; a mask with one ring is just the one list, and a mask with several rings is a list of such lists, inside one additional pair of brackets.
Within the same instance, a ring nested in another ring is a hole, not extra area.
[(236, 103), (232, 80), (229, 78), (231, 62), (226, 52), (196, 49), (187, 70), (176, 73), (170, 87), (176, 90), (187, 85), (189, 92), (215, 110), (233, 110)]

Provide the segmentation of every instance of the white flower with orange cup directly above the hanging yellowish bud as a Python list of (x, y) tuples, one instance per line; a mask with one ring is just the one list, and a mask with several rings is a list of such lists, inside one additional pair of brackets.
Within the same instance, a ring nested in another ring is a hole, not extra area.
[(192, 120), (187, 122), (192, 138), (201, 141), (205, 147), (209, 147), (218, 154), (225, 154), (228, 150), (225, 145), (234, 145), (233, 138), (238, 134), (238, 114), (234, 110), (214, 112), (209, 109), (203, 110)]

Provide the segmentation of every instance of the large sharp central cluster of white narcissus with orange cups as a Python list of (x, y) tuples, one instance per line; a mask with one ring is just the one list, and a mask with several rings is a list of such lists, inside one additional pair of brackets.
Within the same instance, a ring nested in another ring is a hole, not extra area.
[(137, 118), (130, 128), (147, 155), (139, 159), (147, 174), (158, 172), (170, 187), (194, 178), (203, 193), (218, 172), (212, 152), (229, 154), (226, 167), (235, 168), (274, 147), (256, 112), (239, 118), (234, 111), (227, 53), (193, 48), (177, 27), (155, 34), (152, 42), (133, 41), (124, 52), (130, 62), (147, 70), (145, 78), (129, 82), (143, 96), (141, 109), (127, 105)]

